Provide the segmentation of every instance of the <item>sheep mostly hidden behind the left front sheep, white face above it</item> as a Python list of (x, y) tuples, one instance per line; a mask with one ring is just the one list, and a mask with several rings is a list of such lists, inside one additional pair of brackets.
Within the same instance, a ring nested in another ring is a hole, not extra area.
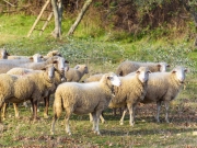
[[(46, 96), (44, 96), (45, 101), (45, 111), (44, 111), (44, 117), (48, 118), (48, 106), (49, 106), (49, 96), (50, 94), (55, 93), (55, 90), (59, 83), (65, 81), (65, 72), (62, 69), (68, 69), (68, 65), (65, 65), (67, 62), (65, 58), (59, 57), (57, 60), (54, 61), (56, 71), (55, 71), (55, 78), (54, 78), (54, 86), (48, 90), (46, 93)], [(42, 72), (42, 70), (33, 70), (33, 69), (26, 69), (26, 68), (13, 68), (9, 70), (7, 73), (9, 75), (27, 75), (27, 73), (33, 73), (33, 72)], [(13, 103), (14, 111), (15, 111), (15, 117), (19, 117), (19, 111), (18, 106), (15, 103)], [(5, 118), (5, 105), (3, 106), (3, 112), (2, 112), (2, 117), (3, 119)]]

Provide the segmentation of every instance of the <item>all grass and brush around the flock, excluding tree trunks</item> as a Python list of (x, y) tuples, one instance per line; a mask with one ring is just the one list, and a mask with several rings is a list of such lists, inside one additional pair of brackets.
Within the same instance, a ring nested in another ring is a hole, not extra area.
[[(23, 2), (27, 1), (21, 2), (24, 4)], [(0, 47), (7, 48), (12, 55), (35, 53), (44, 55), (48, 50), (58, 49), (70, 61), (71, 67), (79, 62), (88, 64), (90, 75), (115, 71), (117, 65), (125, 59), (166, 61), (171, 64), (171, 68), (176, 65), (185, 66), (189, 72), (186, 76), (185, 89), (171, 104), (171, 124), (164, 122), (163, 110), (162, 123), (155, 123), (154, 104), (138, 105), (136, 125), (132, 128), (128, 124), (128, 115), (125, 125), (120, 126), (118, 123), (120, 116), (113, 116), (112, 111), (107, 110), (105, 113), (107, 123), (100, 126), (102, 136), (91, 133), (92, 124), (88, 115), (72, 115), (70, 122), (72, 136), (65, 133), (62, 115), (57, 123), (56, 135), (51, 136), (49, 133), (53, 117), (51, 98), (50, 117), (43, 118), (44, 107), (40, 103), (40, 119), (36, 123), (30, 119), (30, 109), (23, 106), (20, 107), (20, 119), (14, 118), (10, 105), (8, 118), (3, 122), (3, 133), (0, 134), (0, 147), (196, 147), (195, 23), (190, 18), (179, 18), (182, 14), (188, 14), (186, 10), (181, 9), (182, 4), (177, 0), (139, 1), (136, 5), (124, 5), (125, 2), (131, 2), (126, 0), (94, 1), (73, 36), (67, 37), (66, 34), (79, 11), (71, 1), (67, 2), (70, 7), (65, 5), (68, 11), (63, 14), (62, 39), (54, 39), (50, 35), (54, 30), (53, 21), (42, 36), (35, 31), (30, 38), (26, 37), (36, 19), (34, 14), (39, 12), (38, 5), (43, 4), (35, 0), (31, 9), (21, 11), (19, 7), (18, 14), (18, 11), (12, 14), (0, 13)], [(82, 7), (82, 3), (78, 4), (79, 8)], [(135, 9), (137, 7), (138, 9)], [(166, 10), (167, 7), (171, 11)], [(7, 11), (0, 9), (0, 12), (1, 10)], [(158, 18), (160, 19), (157, 21)], [(128, 27), (129, 20), (135, 20), (130, 27)]]

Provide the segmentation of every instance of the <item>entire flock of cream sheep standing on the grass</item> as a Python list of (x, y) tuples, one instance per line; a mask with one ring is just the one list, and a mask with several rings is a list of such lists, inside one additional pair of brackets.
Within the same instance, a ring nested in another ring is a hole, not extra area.
[(126, 60), (116, 72), (93, 75), (83, 82), (81, 78), (89, 72), (86, 65), (69, 68), (68, 61), (58, 50), (46, 56), (35, 54), (27, 56), (10, 56), (5, 49), (0, 49), (0, 122), (5, 119), (7, 103), (13, 103), (15, 117), (19, 117), (18, 104), (31, 101), (33, 119), (37, 119), (37, 104), (44, 99), (44, 117), (48, 117), (49, 98), (54, 99), (55, 123), (66, 111), (66, 132), (71, 135), (69, 118), (74, 114), (90, 114), (92, 130), (100, 135), (100, 118), (105, 109), (124, 109), (120, 124), (129, 111), (130, 126), (135, 124), (135, 107), (140, 103), (157, 103), (157, 122), (161, 103), (165, 105), (165, 121), (169, 123), (169, 104), (181, 91), (187, 69), (177, 66), (166, 71), (166, 62), (137, 62)]

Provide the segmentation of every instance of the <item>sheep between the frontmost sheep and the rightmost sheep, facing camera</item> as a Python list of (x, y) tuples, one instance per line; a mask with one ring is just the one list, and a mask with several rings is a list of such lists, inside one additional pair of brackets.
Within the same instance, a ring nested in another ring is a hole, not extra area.
[[(147, 67), (140, 67), (132, 75), (119, 77), (121, 86), (114, 88), (115, 98), (108, 104), (109, 109), (126, 107), (130, 114), (130, 126), (134, 126), (134, 112), (137, 103), (142, 101), (147, 93), (147, 82), (149, 79), (150, 70)], [(91, 116), (90, 116), (91, 118)], [(100, 116), (104, 123), (103, 116)], [(124, 124), (124, 118), (120, 119), (120, 125)]]

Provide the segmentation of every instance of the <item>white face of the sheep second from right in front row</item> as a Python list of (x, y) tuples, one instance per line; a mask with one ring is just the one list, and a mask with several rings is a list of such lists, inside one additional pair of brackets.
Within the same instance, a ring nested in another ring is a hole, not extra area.
[(149, 79), (149, 69), (147, 67), (140, 67), (136, 73), (138, 75), (138, 79), (142, 82), (146, 83)]

